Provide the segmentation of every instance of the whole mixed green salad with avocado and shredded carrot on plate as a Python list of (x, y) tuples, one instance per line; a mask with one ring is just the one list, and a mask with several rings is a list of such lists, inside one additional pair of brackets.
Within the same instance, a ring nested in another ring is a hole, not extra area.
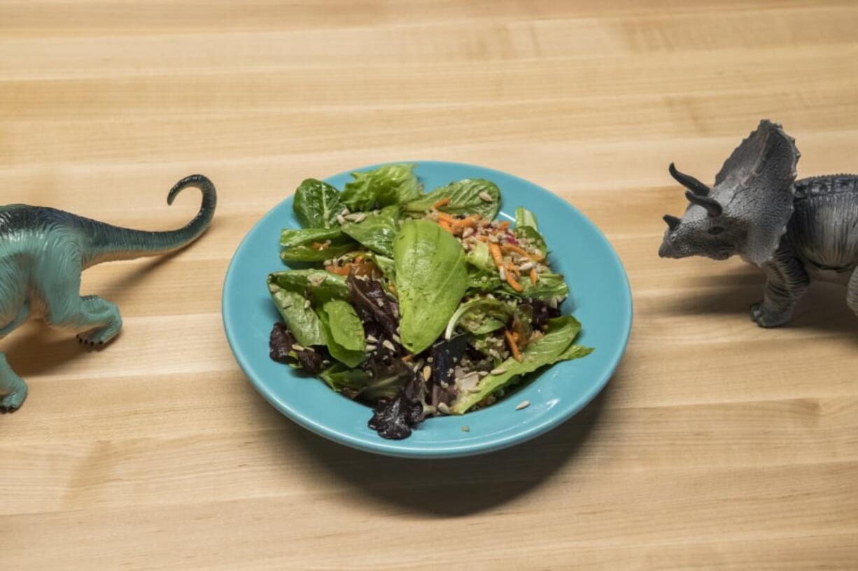
[(269, 273), (283, 320), (269, 349), (374, 406), (379, 436), (491, 406), (530, 372), (593, 351), (560, 314), (569, 286), (535, 215), (498, 220), (497, 185), (424, 193), (414, 165), (352, 177), (342, 192), (312, 178), (295, 191), (302, 227), (281, 232), (281, 259), (303, 267)]

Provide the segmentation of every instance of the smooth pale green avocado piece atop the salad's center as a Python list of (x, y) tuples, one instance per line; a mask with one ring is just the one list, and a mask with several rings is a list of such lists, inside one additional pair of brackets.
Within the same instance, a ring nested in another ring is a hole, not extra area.
[(468, 288), (462, 244), (429, 220), (408, 220), (393, 243), (402, 346), (422, 352), (444, 332)]

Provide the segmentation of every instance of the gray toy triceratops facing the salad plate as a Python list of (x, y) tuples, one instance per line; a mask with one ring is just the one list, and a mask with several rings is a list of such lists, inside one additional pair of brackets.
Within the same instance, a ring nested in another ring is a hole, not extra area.
[(789, 322), (811, 279), (847, 286), (858, 315), (858, 175), (795, 180), (800, 157), (781, 125), (761, 121), (709, 188), (670, 165), (689, 205), (668, 223), (662, 257), (741, 255), (766, 276), (751, 318), (764, 328)]

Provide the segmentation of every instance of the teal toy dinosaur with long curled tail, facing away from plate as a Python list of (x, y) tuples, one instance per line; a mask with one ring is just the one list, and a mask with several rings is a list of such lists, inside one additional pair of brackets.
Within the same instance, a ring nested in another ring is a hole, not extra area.
[[(0, 206), (0, 339), (28, 316), (69, 329), (88, 345), (116, 337), (122, 327), (117, 306), (81, 296), (81, 272), (102, 261), (163, 254), (196, 240), (215, 214), (217, 195), (208, 178), (191, 175), (172, 187), (167, 204), (188, 186), (202, 190), (202, 206), (176, 231), (129, 230), (55, 208)], [(0, 412), (15, 411), (25, 398), (27, 384), (0, 352)]]

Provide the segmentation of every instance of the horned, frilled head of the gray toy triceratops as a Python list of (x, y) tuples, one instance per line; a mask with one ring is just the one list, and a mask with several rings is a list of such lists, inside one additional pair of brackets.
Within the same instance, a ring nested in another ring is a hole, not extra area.
[(793, 213), (800, 156), (795, 139), (764, 119), (736, 147), (711, 188), (671, 164), (671, 176), (686, 188), (688, 207), (681, 218), (664, 216), (668, 230), (658, 255), (726, 260), (740, 254), (758, 265), (769, 261)]

